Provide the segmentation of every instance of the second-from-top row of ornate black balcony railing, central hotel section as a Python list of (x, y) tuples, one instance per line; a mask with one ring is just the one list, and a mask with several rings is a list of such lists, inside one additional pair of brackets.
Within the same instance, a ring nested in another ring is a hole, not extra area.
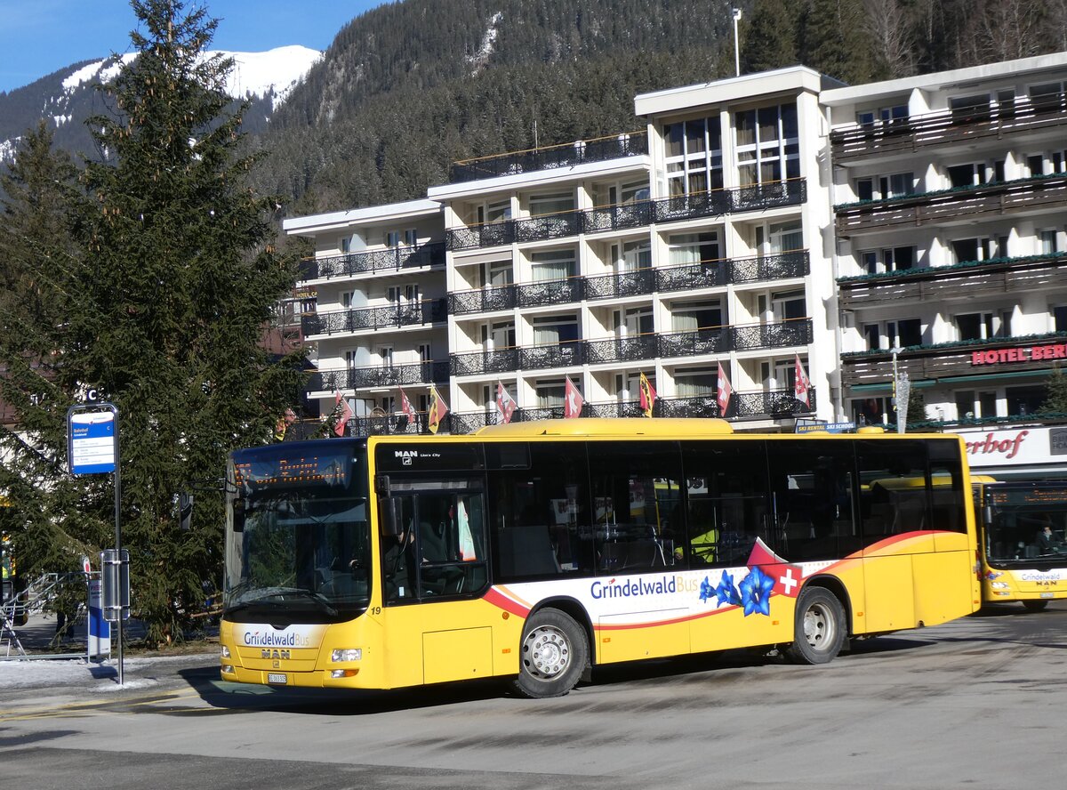
[(729, 283), (799, 278), (807, 275), (809, 270), (807, 252), (787, 252), (764, 257), (707, 260), (662, 269), (634, 269), (618, 274), (459, 290), (448, 295), (448, 305), (452, 315), (491, 313), (515, 306), (567, 304), (583, 299), (621, 299), (646, 296), (657, 290), (695, 290)]

